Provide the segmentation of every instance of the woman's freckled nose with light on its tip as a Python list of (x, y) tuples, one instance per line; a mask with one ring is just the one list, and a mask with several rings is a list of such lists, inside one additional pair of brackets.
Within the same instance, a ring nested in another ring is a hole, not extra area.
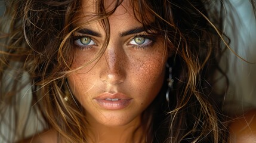
[(121, 48), (108, 46), (101, 57), (100, 80), (118, 85), (125, 80), (125, 54)]

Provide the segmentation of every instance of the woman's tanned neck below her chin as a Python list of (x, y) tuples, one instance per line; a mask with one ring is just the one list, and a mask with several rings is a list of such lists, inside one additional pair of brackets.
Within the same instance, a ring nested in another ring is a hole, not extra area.
[(119, 143), (146, 142), (146, 134), (141, 126), (140, 117), (124, 126), (104, 126), (98, 122), (90, 122), (89, 142)]

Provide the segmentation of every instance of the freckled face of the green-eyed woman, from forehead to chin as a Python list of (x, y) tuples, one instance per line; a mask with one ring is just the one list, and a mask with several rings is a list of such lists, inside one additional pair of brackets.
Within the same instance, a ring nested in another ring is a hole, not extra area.
[[(95, 1), (82, 1), (86, 23), (95, 14)], [(111, 2), (107, 10), (113, 8)], [(109, 17), (110, 41), (102, 57), (67, 77), (77, 100), (85, 108), (88, 122), (122, 126), (140, 119), (158, 95), (164, 81), (168, 57), (162, 36), (147, 35), (134, 18), (128, 1)], [(72, 69), (84, 66), (103, 46), (106, 33), (100, 22), (85, 24), (74, 33), (75, 59)]]

